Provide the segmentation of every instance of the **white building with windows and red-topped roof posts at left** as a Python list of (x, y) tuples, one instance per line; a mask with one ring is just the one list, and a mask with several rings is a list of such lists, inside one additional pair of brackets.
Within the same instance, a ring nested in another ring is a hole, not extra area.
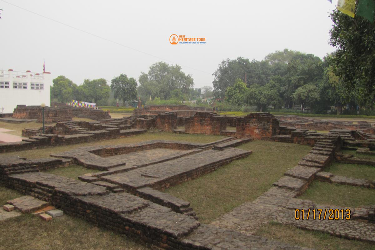
[(51, 105), (51, 73), (0, 70), (0, 113), (13, 113), (17, 105)]

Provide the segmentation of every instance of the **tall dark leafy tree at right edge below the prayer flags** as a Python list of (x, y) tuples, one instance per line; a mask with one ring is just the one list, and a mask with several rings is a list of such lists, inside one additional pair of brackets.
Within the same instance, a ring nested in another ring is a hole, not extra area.
[(375, 24), (338, 10), (330, 16), (333, 27), (329, 43), (337, 48), (332, 71), (339, 77), (341, 88), (355, 93), (360, 105), (370, 107), (375, 96)]

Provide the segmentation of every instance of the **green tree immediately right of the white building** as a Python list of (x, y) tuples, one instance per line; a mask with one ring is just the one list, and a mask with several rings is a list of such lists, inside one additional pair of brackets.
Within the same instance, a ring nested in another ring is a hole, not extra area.
[(69, 102), (75, 99), (77, 85), (65, 76), (57, 76), (52, 80), (51, 99), (58, 102)]

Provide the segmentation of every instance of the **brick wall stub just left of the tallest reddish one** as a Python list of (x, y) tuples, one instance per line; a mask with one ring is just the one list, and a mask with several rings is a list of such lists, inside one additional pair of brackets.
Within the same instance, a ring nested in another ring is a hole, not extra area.
[(226, 116), (210, 111), (199, 111), (185, 120), (185, 133), (220, 135), (226, 129)]

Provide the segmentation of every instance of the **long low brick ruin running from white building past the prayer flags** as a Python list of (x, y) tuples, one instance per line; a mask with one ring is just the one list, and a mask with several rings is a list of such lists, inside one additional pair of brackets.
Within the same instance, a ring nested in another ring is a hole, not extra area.
[[(37, 119), (38, 122), (42, 122), (42, 110), (41, 106), (17, 105), (12, 117), (18, 119)], [(73, 117), (89, 118), (92, 120), (111, 119), (110, 111), (101, 109), (75, 108), (72, 106), (46, 107), (44, 109), (45, 123), (70, 121)]]

